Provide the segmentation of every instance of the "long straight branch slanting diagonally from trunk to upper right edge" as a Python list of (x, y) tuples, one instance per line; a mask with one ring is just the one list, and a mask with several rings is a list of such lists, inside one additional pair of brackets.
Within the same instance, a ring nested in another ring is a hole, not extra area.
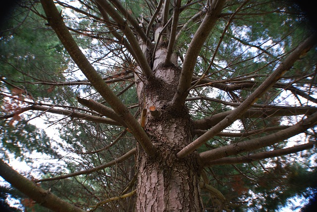
[(315, 43), (317, 42), (317, 33), (313, 34), (311, 37), (306, 39), (302, 44), (300, 44), (289, 56), (281, 62), (281, 64), (276, 68), (271, 75), (269, 75), (264, 82), (252, 93), (240, 106), (232, 110), (223, 120), (218, 122), (214, 127), (207, 131), (204, 135), (200, 136), (198, 139), (187, 145), (179, 153), (177, 153), (177, 158), (184, 158), (194, 150), (199, 148), (201, 145), (206, 143), (213, 136), (221, 132), (227, 126), (232, 124), (238, 117), (245, 113), (250, 106), (252, 106), (268, 89), (270, 89), (277, 80), (289, 70), (295, 61), (297, 61), (303, 53), (307, 53)]

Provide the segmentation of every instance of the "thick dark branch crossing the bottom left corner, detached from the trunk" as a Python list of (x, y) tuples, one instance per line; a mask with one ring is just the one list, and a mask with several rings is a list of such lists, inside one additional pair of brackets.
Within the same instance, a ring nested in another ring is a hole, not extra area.
[(53, 211), (84, 212), (84, 210), (61, 200), (50, 191), (44, 190), (41, 186), (34, 184), (17, 171), (13, 170), (0, 159), (0, 175), (14, 188), (36, 201), (38, 204)]

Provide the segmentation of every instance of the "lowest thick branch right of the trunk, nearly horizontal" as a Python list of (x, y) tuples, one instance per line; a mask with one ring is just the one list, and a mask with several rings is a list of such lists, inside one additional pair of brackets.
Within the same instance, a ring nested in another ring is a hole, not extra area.
[(241, 157), (228, 157), (222, 159), (209, 160), (204, 163), (205, 166), (211, 165), (223, 165), (223, 164), (234, 164), (234, 163), (249, 163), (255, 160), (274, 158), (279, 156), (285, 156), (292, 153), (297, 153), (303, 150), (308, 150), (314, 147), (314, 142), (309, 142), (307, 144), (297, 145), (294, 147), (280, 149), (280, 150), (272, 150), (262, 153), (256, 153), (248, 156)]

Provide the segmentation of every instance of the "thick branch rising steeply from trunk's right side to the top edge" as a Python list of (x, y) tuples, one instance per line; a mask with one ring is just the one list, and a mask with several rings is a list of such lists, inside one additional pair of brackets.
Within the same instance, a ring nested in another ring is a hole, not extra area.
[(184, 58), (177, 92), (174, 95), (172, 101), (173, 106), (183, 106), (185, 104), (185, 99), (189, 93), (188, 89), (190, 88), (192, 82), (192, 75), (194, 72), (196, 59), (210, 34), (211, 29), (214, 27), (224, 3), (225, 0), (218, 0), (214, 7), (208, 8), (203, 22), (199, 26), (192, 41), (189, 44), (189, 48)]

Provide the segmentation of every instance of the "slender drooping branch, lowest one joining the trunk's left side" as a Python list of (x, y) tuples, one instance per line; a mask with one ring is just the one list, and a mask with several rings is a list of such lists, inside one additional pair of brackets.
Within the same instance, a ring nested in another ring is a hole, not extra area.
[(78, 176), (78, 175), (81, 175), (81, 174), (89, 174), (89, 173), (104, 169), (106, 167), (109, 167), (109, 166), (112, 166), (112, 165), (116, 165), (116, 164), (118, 164), (120, 162), (123, 162), (125, 159), (130, 158), (135, 153), (136, 153), (136, 149), (134, 148), (134, 149), (130, 150), (129, 152), (127, 152), (126, 154), (124, 154), (123, 156), (121, 156), (121, 157), (119, 157), (117, 159), (114, 159), (114, 160), (112, 160), (110, 162), (107, 162), (105, 164), (101, 164), (99, 166), (96, 166), (95, 168), (89, 168), (89, 169), (86, 169), (86, 170), (83, 170), (83, 171), (77, 171), (77, 172), (74, 172), (74, 173), (65, 174), (65, 175), (61, 175), (61, 176), (58, 176), (58, 177), (51, 177), (51, 178), (35, 180), (34, 182), (38, 183), (38, 182), (44, 182), (44, 181), (61, 180), (61, 179), (65, 179), (65, 178), (69, 178), (69, 177), (73, 177), (73, 176)]

